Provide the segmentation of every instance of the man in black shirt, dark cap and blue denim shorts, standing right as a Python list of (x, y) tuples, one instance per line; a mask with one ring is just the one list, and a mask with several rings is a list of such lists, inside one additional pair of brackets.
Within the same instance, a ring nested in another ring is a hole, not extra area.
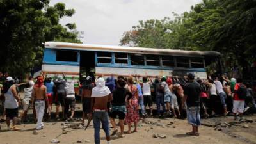
[(187, 105), (188, 123), (192, 125), (192, 132), (186, 134), (199, 136), (198, 126), (200, 125), (200, 84), (195, 82), (195, 74), (189, 72), (189, 82), (184, 84), (184, 98), (182, 99), (182, 108)]

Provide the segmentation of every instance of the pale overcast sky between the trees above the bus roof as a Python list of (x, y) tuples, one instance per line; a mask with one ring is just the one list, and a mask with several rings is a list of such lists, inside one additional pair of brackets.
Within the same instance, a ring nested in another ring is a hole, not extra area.
[(74, 8), (72, 17), (63, 17), (60, 23), (76, 23), (83, 31), (84, 44), (118, 45), (125, 31), (139, 20), (173, 18), (202, 0), (51, 0), (50, 5), (65, 3)]

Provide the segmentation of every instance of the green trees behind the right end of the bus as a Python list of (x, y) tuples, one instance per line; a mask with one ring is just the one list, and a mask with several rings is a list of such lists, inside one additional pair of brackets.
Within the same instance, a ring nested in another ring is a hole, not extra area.
[(174, 20), (140, 21), (125, 31), (120, 45), (219, 51), (230, 67), (248, 72), (256, 59), (256, 1), (204, 0), (173, 15)]

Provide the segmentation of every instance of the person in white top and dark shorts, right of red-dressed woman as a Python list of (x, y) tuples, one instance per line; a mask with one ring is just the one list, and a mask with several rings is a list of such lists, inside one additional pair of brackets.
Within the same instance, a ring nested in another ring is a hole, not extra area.
[(152, 97), (151, 97), (151, 84), (152, 80), (150, 77), (148, 77), (149, 81), (147, 81), (147, 77), (143, 77), (143, 86), (142, 86), (142, 92), (143, 92), (143, 98), (144, 98), (144, 106), (145, 109), (148, 106), (150, 109), (150, 115), (153, 115), (153, 107), (152, 107)]

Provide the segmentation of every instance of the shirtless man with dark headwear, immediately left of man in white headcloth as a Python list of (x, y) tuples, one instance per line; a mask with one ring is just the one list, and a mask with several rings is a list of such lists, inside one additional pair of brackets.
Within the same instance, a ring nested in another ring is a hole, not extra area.
[(86, 77), (86, 83), (82, 85), (82, 104), (83, 104), (83, 120), (82, 125), (84, 125), (84, 119), (90, 113), (92, 113), (92, 88), (94, 85), (92, 84), (92, 77)]

